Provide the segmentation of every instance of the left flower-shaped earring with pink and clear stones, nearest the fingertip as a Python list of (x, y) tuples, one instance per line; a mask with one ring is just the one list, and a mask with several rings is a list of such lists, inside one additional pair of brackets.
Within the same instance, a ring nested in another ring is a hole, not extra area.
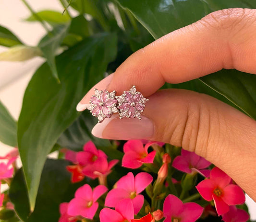
[(105, 118), (110, 118), (113, 113), (117, 113), (117, 100), (115, 99), (116, 91), (94, 89), (95, 94), (90, 99), (90, 104), (86, 109), (90, 110), (92, 115), (102, 122)]

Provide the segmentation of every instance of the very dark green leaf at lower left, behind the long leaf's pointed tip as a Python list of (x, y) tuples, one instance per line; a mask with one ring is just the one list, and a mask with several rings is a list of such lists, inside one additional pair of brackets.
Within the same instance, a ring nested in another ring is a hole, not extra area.
[(97, 180), (84, 180), (71, 184), (71, 174), (66, 170), (70, 163), (65, 160), (47, 159), (40, 186), (38, 189), (35, 211), (30, 212), (29, 200), (23, 170), (15, 174), (9, 196), (14, 204), (14, 209), (24, 222), (57, 222), (60, 217), (59, 205), (69, 202), (76, 189), (89, 182), (93, 186)]

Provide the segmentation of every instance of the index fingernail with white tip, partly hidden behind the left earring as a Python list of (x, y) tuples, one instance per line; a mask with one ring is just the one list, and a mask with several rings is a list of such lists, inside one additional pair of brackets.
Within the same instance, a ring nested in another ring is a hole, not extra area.
[(103, 78), (100, 82), (98, 82), (92, 89), (90, 89), (84, 96), (84, 98), (77, 104), (76, 110), (77, 111), (84, 111), (86, 108), (86, 103), (89, 103), (90, 98), (94, 95), (94, 89), (97, 88), (98, 90), (103, 90), (108, 87), (112, 78), (114, 77), (114, 73), (110, 74), (106, 78)]

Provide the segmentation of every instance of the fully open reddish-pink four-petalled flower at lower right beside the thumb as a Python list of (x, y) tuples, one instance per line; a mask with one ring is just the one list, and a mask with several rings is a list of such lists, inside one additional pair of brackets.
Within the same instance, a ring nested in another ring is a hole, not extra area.
[(230, 182), (231, 178), (227, 174), (218, 167), (214, 167), (210, 172), (210, 178), (196, 186), (205, 200), (214, 200), (219, 215), (228, 212), (229, 205), (243, 204), (245, 201), (243, 190)]

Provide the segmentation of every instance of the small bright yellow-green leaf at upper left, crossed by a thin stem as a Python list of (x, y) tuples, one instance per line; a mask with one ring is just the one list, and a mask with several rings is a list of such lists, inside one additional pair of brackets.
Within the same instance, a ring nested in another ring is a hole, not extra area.
[[(61, 24), (66, 23), (70, 21), (70, 17), (67, 13), (64, 13), (62, 15), (59, 11), (50, 11), (50, 10), (44, 10), (44, 11), (38, 11), (37, 15), (40, 17), (41, 20), (48, 22), (49, 24)], [(31, 15), (25, 21), (28, 22), (36, 22), (37, 18), (35, 18), (34, 15)]]

